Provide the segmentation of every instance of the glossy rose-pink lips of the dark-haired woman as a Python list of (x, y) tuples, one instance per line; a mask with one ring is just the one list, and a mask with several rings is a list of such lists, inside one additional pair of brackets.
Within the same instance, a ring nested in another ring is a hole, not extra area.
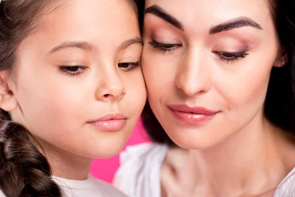
[(168, 107), (177, 120), (187, 124), (207, 122), (219, 112), (205, 107), (190, 107), (188, 105), (169, 105)]

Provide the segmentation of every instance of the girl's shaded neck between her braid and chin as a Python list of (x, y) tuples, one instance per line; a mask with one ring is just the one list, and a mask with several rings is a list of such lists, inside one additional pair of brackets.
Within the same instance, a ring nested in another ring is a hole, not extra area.
[(45, 152), (53, 176), (71, 180), (88, 178), (93, 159), (67, 152), (42, 140), (38, 140), (38, 143), (42, 147), (43, 154)]

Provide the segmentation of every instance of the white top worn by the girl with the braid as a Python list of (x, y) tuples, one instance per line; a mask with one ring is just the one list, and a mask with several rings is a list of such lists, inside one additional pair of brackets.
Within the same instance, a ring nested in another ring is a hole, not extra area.
[[(53, 179), (59, 184), (65, 197), (126, 197), (112, 185), (95, 179), (90, 174), (88, 179), (82, 181), (59, 177)], [(0, 197), (5, 197), (1, 191)]]

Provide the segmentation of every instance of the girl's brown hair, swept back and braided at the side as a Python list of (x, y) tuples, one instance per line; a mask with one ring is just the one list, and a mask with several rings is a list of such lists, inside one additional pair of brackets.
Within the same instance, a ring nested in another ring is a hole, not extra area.
[[(21, 42), (38, 30), (44, 14), (57, 9), (62, 2), (64, 0), (0, 2), (0, 71), (8, 70), (10, 75), (15, 75)], [(51, 178), (50, 165), (32, 144), (32, 139), (26, 128), (13, 122), (10, 114), (0, 109), (0, 190), (7, 197), (61, 197), (61, 189)]]

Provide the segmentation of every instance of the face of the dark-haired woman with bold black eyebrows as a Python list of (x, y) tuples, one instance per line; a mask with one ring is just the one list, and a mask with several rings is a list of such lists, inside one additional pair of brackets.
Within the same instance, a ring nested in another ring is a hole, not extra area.
[(146, 0), (145, 12), (148, 101), (177, 145), (208, 148), (261, 124), (282, 66), (266, 0)]

